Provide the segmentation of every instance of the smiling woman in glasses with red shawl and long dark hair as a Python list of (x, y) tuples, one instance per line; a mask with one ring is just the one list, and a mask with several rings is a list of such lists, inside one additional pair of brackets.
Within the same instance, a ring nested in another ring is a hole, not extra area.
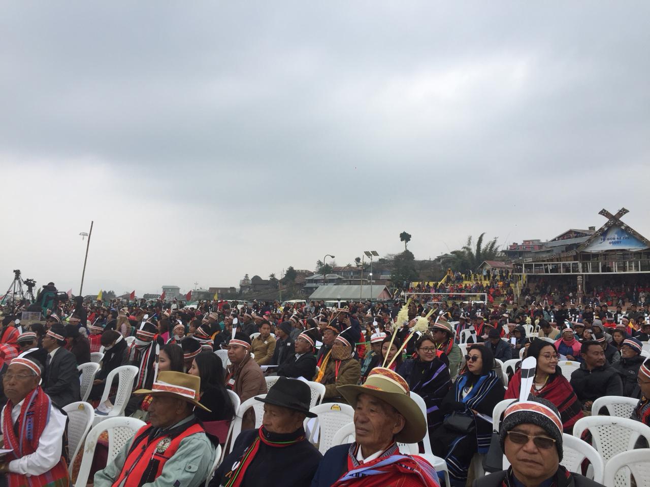
[[(528, 347), (528, 356), (537, 360), (535, 379), (530, 389), (532, 395), (551, 401), (562, 417), (564, 432), (571, 434), (573, 425), (582, 418), (582, 405), (573, 391), (573, 387), (562, 375), (558, 367), (560, 356), (555, 345), (536, 338)], [(505, 399), (517, 399), (521, 386), (521, 369), (515, 372), (506, 391)]]

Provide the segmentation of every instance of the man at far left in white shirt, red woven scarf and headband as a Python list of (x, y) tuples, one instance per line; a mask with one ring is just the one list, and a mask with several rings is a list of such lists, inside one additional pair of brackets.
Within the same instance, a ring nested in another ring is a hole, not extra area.
[(2, 376), (7, 397), (0, 425), (4, 448), (12, 450), (0, 457), (0, 477), (10, 487), (68, 486), (64, 455), (65, 414), (40, 387), (42, 366), (29, 353), (12, 360)]

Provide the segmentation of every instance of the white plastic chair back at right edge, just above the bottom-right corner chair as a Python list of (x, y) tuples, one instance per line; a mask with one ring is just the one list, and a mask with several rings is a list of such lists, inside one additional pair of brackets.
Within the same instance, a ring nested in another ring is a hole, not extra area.
[(640, 421), (615, 416), (587, 416), (573, 425), (573, 436), (582, 438), (589, 430), (592, 446), (607, 462), (612, 456), (634, 449), (636, 440), (643, 436), (650, 443), (650, 427)]

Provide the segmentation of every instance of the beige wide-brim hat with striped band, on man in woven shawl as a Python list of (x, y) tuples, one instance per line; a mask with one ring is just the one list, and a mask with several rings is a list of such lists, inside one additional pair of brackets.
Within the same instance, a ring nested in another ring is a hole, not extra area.
[(409, 396), (408, 384), (402, 376), (391, 369), (376, 367), (370, 371), (362, 386), (339, 386), (337, 390), (353, 408), (357, 405), (359, 394), (368, 394), (393, 406), (406, 423), (402, 431), (395, 435), (400, 443), (417, 443), (426, 434), (426, 419), (420, 406)]

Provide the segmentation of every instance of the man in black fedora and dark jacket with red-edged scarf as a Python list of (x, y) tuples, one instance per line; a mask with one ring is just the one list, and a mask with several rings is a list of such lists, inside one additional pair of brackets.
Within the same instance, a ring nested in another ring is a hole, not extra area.
[(311, 391), (305, 382), (280, 377), (266, 394), (262, 427), (242, 431), (210, 487), (309, 486), (322, 456), (305, 438), (302, 423)]

